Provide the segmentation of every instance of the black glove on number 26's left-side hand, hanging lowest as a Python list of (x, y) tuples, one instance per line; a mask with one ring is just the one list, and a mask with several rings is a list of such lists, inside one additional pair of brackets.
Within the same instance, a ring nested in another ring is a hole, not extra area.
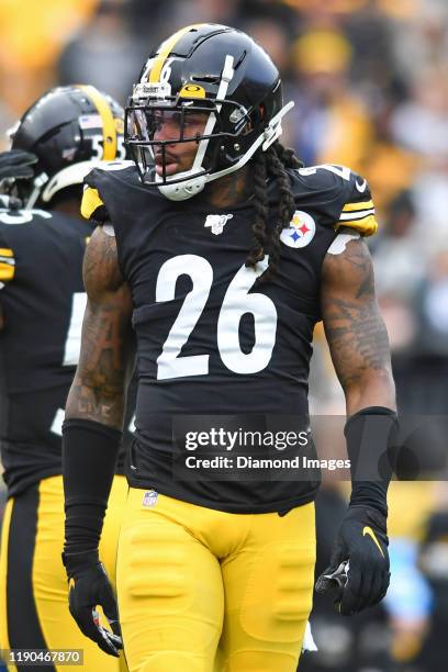
[[(63, 553), (63, 562), (68, 575), (68, 605), (79, 629), (105, 653), (119, 657), (123, 645), (116, 602), (98, 555)], [(101, 605), (112, 632), (100, 625), (97, 605)]]

